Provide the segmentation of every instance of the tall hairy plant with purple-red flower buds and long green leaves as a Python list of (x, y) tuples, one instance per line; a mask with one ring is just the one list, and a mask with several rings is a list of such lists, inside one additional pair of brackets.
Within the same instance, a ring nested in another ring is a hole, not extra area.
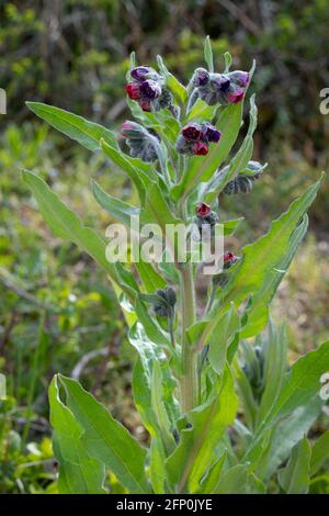
[[(161, 57), (156, 71), (136, 66), (133, 54), (126, 93), (136, 122), (123, 124), (122, 146), (112, 131), (81, 116), (27, 105), (131, 178), (138, 206), (92, 183), (97, 201), (121, 223), (129, 224), (132, 214), (160, 228), (194, 222), (197, 239), (209, 228), (212, 240), (218, 225), (227, 236), (241, 222), (222, 220), (223, 195), (249, 193), (265, 168), (251, 160), (254, 96), (245, 138), (231, 152), (254, 65), (230, 71), (231, 58), (224, 57), (224, 71), (214, 71), (206, 38), (206, 68), (184, 87)], [(319, 382), (329, 370), (329, 343), (288, 366), (285, 334), (269, 323), (269, 304), (305, 235), (320, 181), (239, 257), (224, 249), (220, 270), (206, 278), (203, 263), (178, 258), (174, 242), (167, 243), (172, 262), (110, 261), (95, 231), (41, 178), (24, 171), (24, 179), (55, 235), (80, 246), (109, 276), (138, 354), (133, 396), (149, 434), (146, 448), (77, 381), (56, 374), (49, 402), (59, 491), (102, 493), (110, 470), (128, 493), (308, 492), (328, 452), (328, 434), (316, 444), (305, 436), (324, 404)], [(202, 277), (206, 300), (196, 296)]]

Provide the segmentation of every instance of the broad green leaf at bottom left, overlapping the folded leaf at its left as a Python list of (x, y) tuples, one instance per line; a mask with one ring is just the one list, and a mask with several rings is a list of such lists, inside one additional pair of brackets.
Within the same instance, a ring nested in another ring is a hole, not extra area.
[(63, 375), (58, 379), (66, 390), (68, 408), (84, 430), (87, 453), (103, 462), (131, 493), (149, 493), (146, 450), (77, 381)]

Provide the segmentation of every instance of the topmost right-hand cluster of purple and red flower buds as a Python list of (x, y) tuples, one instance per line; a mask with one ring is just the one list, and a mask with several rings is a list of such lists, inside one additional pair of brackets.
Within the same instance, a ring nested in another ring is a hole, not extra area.
[(227, 105), (237, 104), (243, 99), (249, 80), (248, 71), (211, 74), (204, 68), (196, 68), (192, 85), (197, 89), (200, 98), (208, 105), (217, 103)]

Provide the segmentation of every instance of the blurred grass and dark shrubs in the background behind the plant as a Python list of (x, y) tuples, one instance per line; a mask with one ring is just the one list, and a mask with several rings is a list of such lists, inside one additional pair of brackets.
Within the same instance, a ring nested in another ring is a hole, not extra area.
[[(203, 38), (234, 67), (257, 59), (252, 90), (259, 128), (254, 158), (269, 161), (250, 195), (224, 203), (225, 216), (243, 215), (232, 246), (266, 231), (270, 221), (326, 170), (329, 114), (319, 111), (329, 87), (327, 0), (44, 0), (0, 1), (0, 492), (56, 492), (47, 420), (47, 385), (55, 371), (79, 378), (141, 440), (129, 396), (134, 352), (103, 272), (54, 238), (21, 180), (21, 169), (47, 179), (87, 224), (109, 218), (89, 192), (98, 177), (117, 197), (129, 183), (91, 155), (43, 125), (25, 108), (36, 100), (68, 109), (111, 128), (129, 113), (124, 85), (128, 55), (154, 65), (156, 55), (186, 82), (203, 65)], [(299, 248), (273, 305), (286, 321), (292, 355), (328, 336), (329, 188), (310, 212)]]

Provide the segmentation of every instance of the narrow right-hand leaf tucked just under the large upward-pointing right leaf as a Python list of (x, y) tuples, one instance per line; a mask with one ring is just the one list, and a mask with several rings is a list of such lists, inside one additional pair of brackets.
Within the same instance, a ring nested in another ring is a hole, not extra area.
[(268, 281), (263, 288), (253, 296), (250, 309), (248, 310), (248, 322), (241, 332), (241, 338), (249, 338), (259, 334), (266, 325), (269, 319), (269, 304), (275, 295), (275, 292), (287, 272), (298, 246), (303, 240), (308, 226), (308, 217), (304, 215), (302, 222), (295, 228), (291, 236), (288, 250), (283, 259), (273, 268), (268, 276)]

